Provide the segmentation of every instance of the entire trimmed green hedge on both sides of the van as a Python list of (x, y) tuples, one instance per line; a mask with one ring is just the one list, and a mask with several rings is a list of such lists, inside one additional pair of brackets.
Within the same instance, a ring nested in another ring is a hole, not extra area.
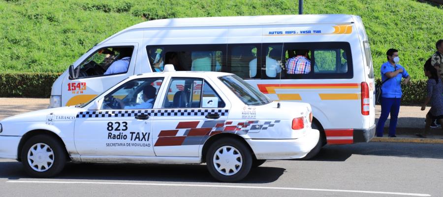
[[(60, 74), (0, 73), (0, 97), (49, 98), (52, 84)], [(411, 80), (402, 90), (402, 104), (421, 103), (426, 96), (426, 80)]]

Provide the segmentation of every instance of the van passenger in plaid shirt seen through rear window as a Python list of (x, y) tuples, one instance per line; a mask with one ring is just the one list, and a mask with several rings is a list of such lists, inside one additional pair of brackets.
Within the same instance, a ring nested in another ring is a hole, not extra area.
[(308, 50), (295, 50), (295, 57), (286, 62), (287, 74), (308, 74), (311, 72), (311, 61), (308, 59)]

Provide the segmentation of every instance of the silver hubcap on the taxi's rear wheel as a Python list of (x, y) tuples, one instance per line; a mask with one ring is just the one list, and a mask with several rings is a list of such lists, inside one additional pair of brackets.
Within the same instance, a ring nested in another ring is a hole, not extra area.
[(222, 146), (214, 154), (214, 167), (223, 175), (233, 175), (242, 167), (240, 151), (232, 146)]

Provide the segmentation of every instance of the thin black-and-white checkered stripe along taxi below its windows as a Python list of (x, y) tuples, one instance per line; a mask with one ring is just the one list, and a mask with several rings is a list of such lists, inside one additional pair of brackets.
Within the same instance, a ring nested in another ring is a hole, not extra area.
[(228, 109), (161, 109), (161, 110), (116, 110), (116, 111), (82, 111), (77, 118), (134, 117), (140, 114), (149, 116), (206, 116), (218, 113), (227, 116)]

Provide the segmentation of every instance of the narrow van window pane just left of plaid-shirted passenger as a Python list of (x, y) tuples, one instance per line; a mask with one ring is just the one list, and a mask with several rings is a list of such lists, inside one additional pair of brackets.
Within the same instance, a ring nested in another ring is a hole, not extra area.
[(283, 63), (283, 44), (263, 45), (262, 78), (280, 79)]

